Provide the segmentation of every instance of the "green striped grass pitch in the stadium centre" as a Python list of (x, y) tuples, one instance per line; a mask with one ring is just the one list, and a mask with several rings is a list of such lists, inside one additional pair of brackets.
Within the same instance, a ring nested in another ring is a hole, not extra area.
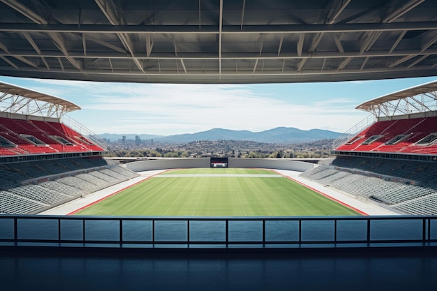
[[(211, 174), (215, 174), (215, 177)], [(225, 176), (221, 176), (222, 174)], [(237, 168), (170, 170), (92, 204), (76, 214), (104, 216), (359, 215), (353, 209), (329, 200), (295, 181), (279, 177), (276, 172)]]

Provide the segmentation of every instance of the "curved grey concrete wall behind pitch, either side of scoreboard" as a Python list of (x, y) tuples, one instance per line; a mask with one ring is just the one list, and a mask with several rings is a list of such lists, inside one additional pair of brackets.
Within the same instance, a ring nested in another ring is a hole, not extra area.
[[(209, 158), (161, 158), (158, 160), (127, 163), (126, 168), (133, 172), (141, 172), (149, 170), (209, 167), (209, 162)], [(279, 158), (229, 158), (229, 167), (257, 167), (304, 172), (313, 168), (314, 164)]]

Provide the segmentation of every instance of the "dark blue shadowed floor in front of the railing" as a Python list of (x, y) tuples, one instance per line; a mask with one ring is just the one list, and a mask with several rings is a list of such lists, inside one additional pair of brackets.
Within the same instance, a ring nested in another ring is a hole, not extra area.
[(0, 290), (435, 290), (437, 254), (0, 253)]

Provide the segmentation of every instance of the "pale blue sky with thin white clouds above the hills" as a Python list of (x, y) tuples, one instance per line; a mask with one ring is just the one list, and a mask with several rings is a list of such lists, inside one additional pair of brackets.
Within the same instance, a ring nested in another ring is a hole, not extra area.
[(2, 77), (79, 105), (68, 113), (97, 134), (175, 135), (279, 126), (346, 132), (371, 115), (355, 107), (437, 77), (291, 84), (142, 84)]

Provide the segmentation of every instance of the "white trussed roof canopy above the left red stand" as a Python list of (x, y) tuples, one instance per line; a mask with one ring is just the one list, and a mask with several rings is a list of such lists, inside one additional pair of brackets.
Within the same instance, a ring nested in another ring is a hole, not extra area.
[(80, 110), (70, 101), (0, 82), (0, 111), (60, 118), (67, 112)]

